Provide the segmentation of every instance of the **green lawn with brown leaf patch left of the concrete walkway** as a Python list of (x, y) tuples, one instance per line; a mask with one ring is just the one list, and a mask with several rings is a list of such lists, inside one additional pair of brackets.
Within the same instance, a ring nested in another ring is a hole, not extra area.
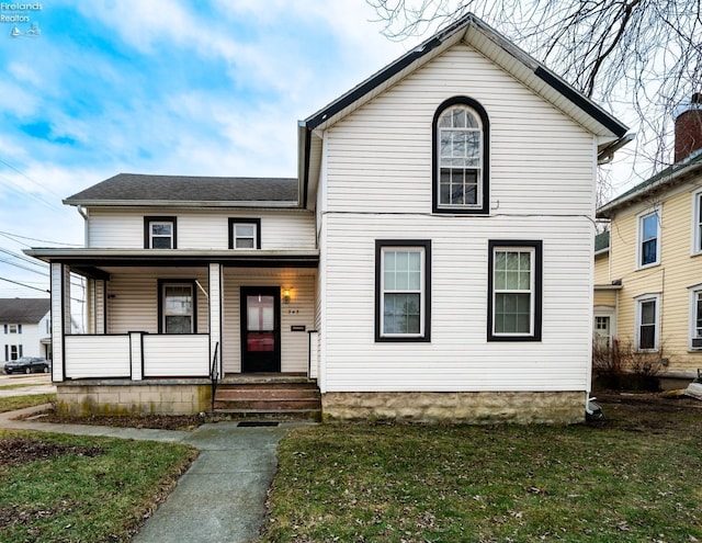
[(3, 543), (127, 542), (196, 454), (180, 444), (2, 430), (0, 451)]

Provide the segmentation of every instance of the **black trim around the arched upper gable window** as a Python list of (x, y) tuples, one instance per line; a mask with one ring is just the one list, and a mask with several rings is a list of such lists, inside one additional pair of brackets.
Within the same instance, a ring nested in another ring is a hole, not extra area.
[[(453, 105), (465, 105), (474, 110), (480, 117), (483, 124), (483, 168), (480, 179), (480, 190), (483, 195), (483, 202), (479, 207), (441, 207), (439, 205), (439, 118), (449, 108)], [(483, 105), (468, 97), (453, 97), (444, 100), (434, 113), (434, 118), (431, 123), (431, 145), (432, 145), (432, 170), (431, 170), (431, 208), (433, 213), (450, 214), (450, 215), (487, 215), (490, 213), (490, 120), (487, 115), (487, 111)]]

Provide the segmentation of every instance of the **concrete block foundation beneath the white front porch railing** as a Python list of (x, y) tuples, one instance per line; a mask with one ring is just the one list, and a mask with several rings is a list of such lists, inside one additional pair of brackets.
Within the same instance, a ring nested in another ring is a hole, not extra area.
[(57, 410), (65, 415), (195, 415), (208, 411), (212, 385), (202, 382), (71, 381), (57, 383)]

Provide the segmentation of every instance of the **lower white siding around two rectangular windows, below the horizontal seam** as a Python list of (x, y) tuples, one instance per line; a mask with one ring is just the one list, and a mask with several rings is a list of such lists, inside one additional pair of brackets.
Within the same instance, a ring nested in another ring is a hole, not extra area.
[[(591, 346), (591, 223), (327, 216), (322, 386), (332, 391), (579, 391)], [(543, 239), (540, 342), (488, 342), (488, 239)], [(374, 236), (430, 238), (431, 342), (374, 341)], [(361, 265), (361, 263), (364, 263)], [(585, 271), (585, 272), (584, 272)], [(353, 293), (349, 296), (349, 293)], [(353, 346), (353, 349), (349, 349)]]

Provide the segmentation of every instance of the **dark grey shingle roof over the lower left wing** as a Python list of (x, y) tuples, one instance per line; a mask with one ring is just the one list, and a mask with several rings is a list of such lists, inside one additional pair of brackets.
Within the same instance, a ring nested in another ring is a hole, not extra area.
[(71, 205), (117, 202), (297, 202), (297, 180), (120, 173), (64, 200)]

